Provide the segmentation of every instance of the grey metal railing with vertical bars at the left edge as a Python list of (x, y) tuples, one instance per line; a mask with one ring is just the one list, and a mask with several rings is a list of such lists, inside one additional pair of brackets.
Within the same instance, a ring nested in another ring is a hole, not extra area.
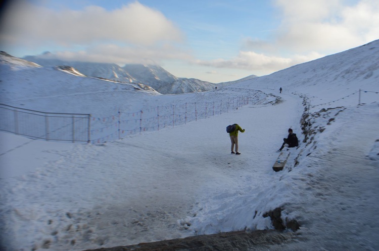
[(0, 104), (0, 131), (32, 139), (90, 142), (90, 114), (54, 113)]

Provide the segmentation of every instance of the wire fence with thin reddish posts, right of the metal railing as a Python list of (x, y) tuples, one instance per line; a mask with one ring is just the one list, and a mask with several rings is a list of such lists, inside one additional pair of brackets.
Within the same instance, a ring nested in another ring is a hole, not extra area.
[(91, 143), (122, 139), (125, 136), (159, 131), (189, 121), (209, 118), (249, 104), (249, 96), (220, 99), (212, 102), (192, 102), (156, 106), (136, 112), (118, 111), (107, 117), (91, 117)]

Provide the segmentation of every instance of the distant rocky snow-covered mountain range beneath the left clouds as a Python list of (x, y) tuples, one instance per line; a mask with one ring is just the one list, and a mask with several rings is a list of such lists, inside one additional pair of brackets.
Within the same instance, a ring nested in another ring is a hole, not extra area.
[(25, 56), (23, 59), (44, 67), (70, 66), (89, 77), (104, 78), (122, 83), (141, 83), (151, 86), (162, 94), (203, 92), (215, 88), (215, 84), (210, 82), (175, 77), (162, 67), (155, 65), (130, 64), (120, 67), (116, 64), (63, 61), (40, 56)]

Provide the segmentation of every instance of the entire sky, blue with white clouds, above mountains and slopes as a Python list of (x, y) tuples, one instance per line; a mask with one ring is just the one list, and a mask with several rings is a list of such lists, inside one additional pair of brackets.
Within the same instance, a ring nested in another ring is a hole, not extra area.
[(0, 50), (14, 56), (157, 64), (213, 83), (267, 75), (379, 38), (377, 0), (11, 2), (2, 12)]

